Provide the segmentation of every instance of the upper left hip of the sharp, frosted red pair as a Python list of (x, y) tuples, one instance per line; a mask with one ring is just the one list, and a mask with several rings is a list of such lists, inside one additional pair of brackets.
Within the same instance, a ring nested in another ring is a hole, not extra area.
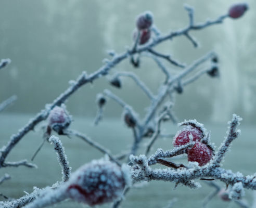
[(198, 128), (186, 126), (174, 136), (174, 147), (187, 144), (190, 141), (189, 135), (193, 136), (193, 141), (200, 141), (203, 137), (202, 132)]

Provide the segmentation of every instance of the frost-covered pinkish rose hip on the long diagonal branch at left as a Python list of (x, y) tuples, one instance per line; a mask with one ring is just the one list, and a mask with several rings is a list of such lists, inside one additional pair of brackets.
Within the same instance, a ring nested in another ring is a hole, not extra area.
[(63, 130), (66, 129), (71, 123), (71, 116), (65, 108), (55, 106), (49, 113), (48, 126), (54, 129), (59, 135), (63, 134)]

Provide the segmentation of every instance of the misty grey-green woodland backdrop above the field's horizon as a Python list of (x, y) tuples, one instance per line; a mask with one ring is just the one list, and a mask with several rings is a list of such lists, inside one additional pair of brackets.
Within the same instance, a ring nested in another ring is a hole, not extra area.
[[(185, 27), (188, 15), (184, 3), (195, 8), (195, 22), (203, 22), (226, 14), (237, 1), (1, 0), (0, 58), (12, 62), (0, 71), (0, 102), (13, 94), (18, 96), (5, 112), (39, 112), (69, 86), (69, 80), (75, 80), (82, 71), (89, 74), (101, 67), (103, 59), (110, 58), (108, 49), (122, 53), (132, 45), (136, 16), (145, 10), (153, 12), (154, 22), (163, 34)], [(176, 95), (179, 121), (195, 118), (200, 122), (226, 122), (236, 113), (245, 123), (256, 122), (256, 3), (248, 3), (250, 8), (242, 18), (227, 18), (223, 24), (191, 32), (199, 48), (185, 37), (157, 46), (158, 51), (187, 64), (210, 50), (219, 55), (220, 78), (203, 75), (185, 87), (182, 95)], [(149, 58), (142, 58), (141, 63), (134, 69), (127, 59), (110, 75), (119, 70), (132, 71), (157, 93), (164, 79), (162, 72)], [(170, 67), (174, 72), (181, 70)], [(96, 94), (105, 88), (137, 112), (145, 113), (148, 99), (131, 80), (124, 79), (122, 89), (115, 89), (106, 77), (101, 77), (69, 98), (67, 108), (74, 118), (95, 116)], [(105, 116), (121, 113), (122, 109), (109, 101)]]

